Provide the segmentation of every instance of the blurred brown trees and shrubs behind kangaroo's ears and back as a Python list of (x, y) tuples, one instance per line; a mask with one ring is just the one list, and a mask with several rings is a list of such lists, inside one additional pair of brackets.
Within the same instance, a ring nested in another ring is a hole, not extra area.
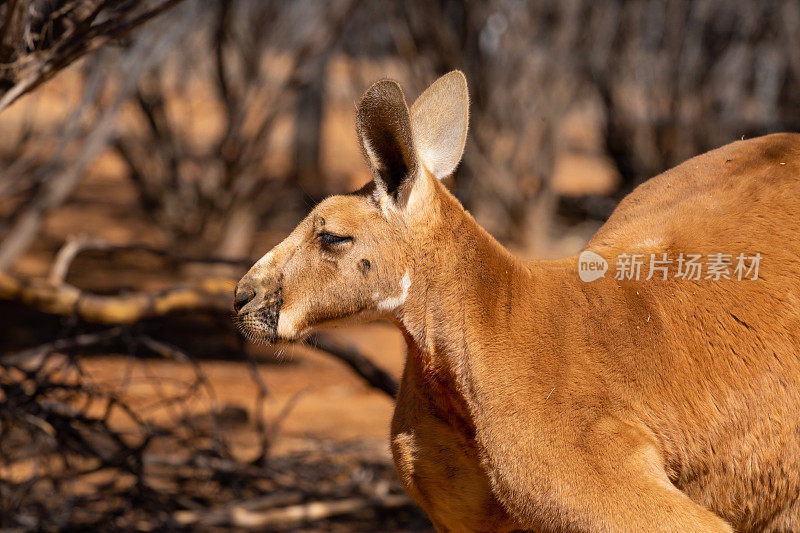
[(58, 169), (111, 158), (164, 244), (257, 254), (257, 228), (367, 179), (352, 107), (372, 80), (413, 99), (460, 68), (453, 190), (501, 240), (547, 247), (694, 154), (800, 129), (798, 50), (796, 0), (185, 1), (71, 69), (60, 116), (5, 113), (0, 228)]

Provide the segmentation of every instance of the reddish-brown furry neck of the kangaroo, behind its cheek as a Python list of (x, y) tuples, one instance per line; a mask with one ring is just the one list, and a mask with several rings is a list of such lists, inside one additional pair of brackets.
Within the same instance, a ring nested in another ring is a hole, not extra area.
[(441, 185), (436, 199), (438, 222), (418, 245), (399, 325), (423, 374), (469, 387), (470, 368), (516, 337), (535, 276)]

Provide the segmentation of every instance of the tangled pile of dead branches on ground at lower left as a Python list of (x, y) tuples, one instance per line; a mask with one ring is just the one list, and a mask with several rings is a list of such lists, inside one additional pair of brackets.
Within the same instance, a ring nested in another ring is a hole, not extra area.
[[(342, 446), (270, 457), (263, 466), (234, 455), (218, 426), (209, 430), (191, 416), (190, 406), (204, 398), (212, 400), (212, 416), (224, 412), (213, 408), (212, 391), (202, 394), (206, 378), (196, 362), (199, 374), (182, 390), (147, 375), (160, 401), (134, 408), (128, 401), (131, 392), (140, 394), (140, 381), (126, 372), (113, 386), (95, 382), (76, 356), (114, 333), (39, 347), (78, 352), (67, 358), (47, 353), (36, 365), (28, 357), (0, 359), (0, 528), (91, 529), (112, 521), (123, 529), (291, 528), (413, 505), (398, 495), (388, 465), (342, 462)], [(169, 358), (189, 357), (130, 338)], [(154, 422), (153, 409), (172, 413), (170, 419)]]

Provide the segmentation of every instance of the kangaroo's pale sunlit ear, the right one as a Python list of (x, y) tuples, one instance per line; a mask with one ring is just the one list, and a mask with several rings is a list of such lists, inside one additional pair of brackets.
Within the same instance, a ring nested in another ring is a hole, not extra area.
[(469, 127), (467, 79), (460, 70), (445, 74), (411, 106), (411, 128), (422, 164), (438, 179), (461, 161)]

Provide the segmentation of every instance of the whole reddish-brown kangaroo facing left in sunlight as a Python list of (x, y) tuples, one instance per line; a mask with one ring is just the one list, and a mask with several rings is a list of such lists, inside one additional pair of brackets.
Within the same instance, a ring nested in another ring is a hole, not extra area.
[(439, 531), (800, 531), (800, 135), (652, 178), (586, 248), (616, 267), (747, 254), (757, 277), (681, 277), (676, 261), (582, 281), (578, 257), (515, 258), (440, 182), (468, 107), (458, 71), (410, 108), (394, 81), (372, 85), (356, 109), (372, 181), (241, 279), (243, 329), (400, 328), (391, 448)]

